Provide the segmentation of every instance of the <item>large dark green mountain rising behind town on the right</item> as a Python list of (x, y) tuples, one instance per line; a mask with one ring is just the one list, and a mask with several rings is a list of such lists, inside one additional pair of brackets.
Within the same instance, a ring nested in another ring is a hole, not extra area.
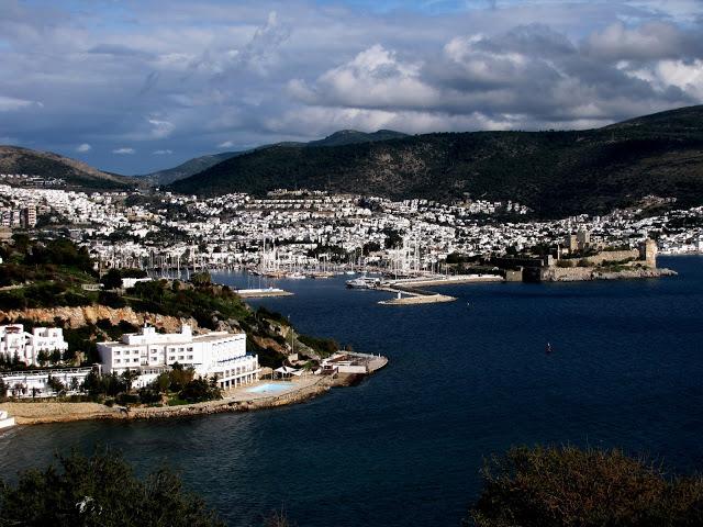
[(703, 203), (703, 105), (603, 128), (467, 132), (339, 146), (276, 146), (227, 159), (177, 192), (328, 189), (392, 199), (513, 200), (542, 216), (603, 213), (643, 197)]

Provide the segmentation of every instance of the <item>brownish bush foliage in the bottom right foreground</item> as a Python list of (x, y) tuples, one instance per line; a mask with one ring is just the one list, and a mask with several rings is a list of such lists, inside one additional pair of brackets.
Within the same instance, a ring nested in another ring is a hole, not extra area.
[(483, 469), (467, 525), (673, 527), (703, 525), (703, 479), (669, 479), (620, 450), (513, 448)]

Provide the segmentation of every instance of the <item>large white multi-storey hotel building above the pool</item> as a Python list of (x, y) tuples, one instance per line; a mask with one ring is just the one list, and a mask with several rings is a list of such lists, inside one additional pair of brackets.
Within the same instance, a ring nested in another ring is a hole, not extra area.
[(99, 343), (98, 352), (103, 373), (137, 370), (135, 386), (144, 386), (176, 362), (192, 367), (202, 378), (214, 378), (221, 389), (236, 388), (258, 380), (258, 357), (247, 355), (246, 334), (213, 332), (193, 335), (183, 325), (180, 333), (156, 333), (144, 327), (141, 333), (127, 333), (121, 341)]

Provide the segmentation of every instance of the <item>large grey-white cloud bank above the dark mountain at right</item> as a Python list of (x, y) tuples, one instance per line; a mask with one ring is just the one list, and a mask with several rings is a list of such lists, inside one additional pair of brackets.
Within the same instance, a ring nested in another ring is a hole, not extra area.
[[(334, 115), (347, 122), (364, 115), (369, 125), (380, 120), (414, 132), (598, 126), (702, 100), (698, 61), (657, 60), (648, 69), (636, 69), (641, 60), (623, 61), (640, 47), (651, 54), (650, 35), (674, 40), (669, 26), (656, 29), (616, 32), (595, 49), (598, 35), (579, 43), (544, 24), (521, 25), (451, 37), (422, 61), (373, 45), (313, 82), (292, 80), (288, 92), (308, 106), (336, 109)], [(688, 42), (683, 33), (678, 37)], [(695, 53), (692, 45), (685, 48)], [(655, 56), (670, 53), (662, 45)], [(639, 58), (646, 58), (644, 51)], [(304, 114), (293, 110), (269, 126), (287, 130), (282, 123)]]

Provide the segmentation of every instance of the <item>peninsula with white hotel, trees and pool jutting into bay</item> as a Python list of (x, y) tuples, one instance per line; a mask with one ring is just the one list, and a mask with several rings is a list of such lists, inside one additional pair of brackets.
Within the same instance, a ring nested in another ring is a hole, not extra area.
[(0, 410), (18, 424), (278, 406), (387, 363), (252, 310), (205, 272), (101, 272), (64, 238), (15, 236), (0, 251)]

